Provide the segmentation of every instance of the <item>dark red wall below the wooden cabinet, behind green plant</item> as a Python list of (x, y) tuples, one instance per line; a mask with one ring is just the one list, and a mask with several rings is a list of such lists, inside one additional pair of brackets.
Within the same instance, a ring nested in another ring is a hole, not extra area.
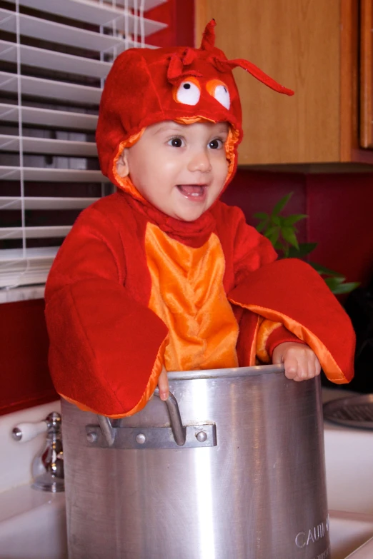
[(373, 276), (373, 173), (301, 174), (239, 169), (224, 201), (242, 207), (247, 221), (294, 192), (287, 213), (307, 213), (299, 240), (317, 242), (312, 261), (367, 283)]

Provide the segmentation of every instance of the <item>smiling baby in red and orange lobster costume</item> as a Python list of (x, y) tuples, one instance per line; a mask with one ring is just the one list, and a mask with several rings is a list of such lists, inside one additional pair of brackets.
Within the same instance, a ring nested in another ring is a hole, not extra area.
[(352, 326), (324, 281), (219, 201), (242, 139), (235, 66), (292, 94), (227, 60), (214, 21), (200, 49), (131, 49), (106, 79), (96, 141), (119, 190), (81, 213), (46, 285), (51, 375), (81, 409), (136, 413), (157, 385), (168, 397), (167, 371), (352, 378)]

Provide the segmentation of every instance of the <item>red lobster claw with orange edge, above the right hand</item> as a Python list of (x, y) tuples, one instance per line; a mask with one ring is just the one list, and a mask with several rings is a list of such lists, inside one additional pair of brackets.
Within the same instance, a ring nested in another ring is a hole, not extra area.
[(270, 321), (281, 322), (319, 358), (334, 383), (354, 374), (351, 321), (319, 274), (290, 258), (258, 268), (229, 293), (229, 301)]

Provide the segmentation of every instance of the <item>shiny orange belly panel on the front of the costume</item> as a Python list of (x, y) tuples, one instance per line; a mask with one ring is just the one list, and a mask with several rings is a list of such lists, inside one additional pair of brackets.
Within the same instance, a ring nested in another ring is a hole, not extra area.
[(145, 250), (149, 308), (169, 328), (166, 370), (237, 367), (238, 325), (223, 287), (225, 261), (217, 235), (192, 248), (148, 223)]

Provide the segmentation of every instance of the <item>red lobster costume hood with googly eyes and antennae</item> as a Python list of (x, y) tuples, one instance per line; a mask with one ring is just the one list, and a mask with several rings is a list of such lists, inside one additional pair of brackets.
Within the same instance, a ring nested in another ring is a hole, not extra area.
[(207, 24), (199, 49), (129, 49), (114, 61), (101, 96), (96, 143), (102, 173), (119, 188), (124, 188), (124, 181), (116, 174), (116, 159), (124, 146), (134, 143), (146, 126), (166, 120), (229, 122), (233, 134), (227, 153), (228, 179), (232, 178), (242, 140), (242, 110), (233, 68), (247, 70), (279, 93), (294, 93), (251, 62), (228, 60), (214, 46), (214, 26), (214, 20)]

